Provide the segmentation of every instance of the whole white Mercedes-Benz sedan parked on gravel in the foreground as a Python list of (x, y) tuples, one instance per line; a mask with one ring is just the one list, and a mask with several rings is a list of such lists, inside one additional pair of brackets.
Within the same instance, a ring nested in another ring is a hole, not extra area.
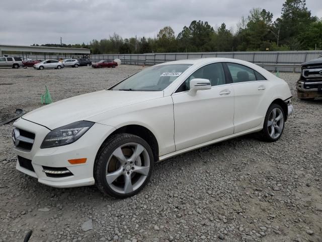
[(130, 197), (157, 161), (249, 133), (277, 141), (293, 113), (290, 99), (284, 80), (238, 59), (156, 65), (19, 118), (17, 169), (52, 187), (96, 184)]

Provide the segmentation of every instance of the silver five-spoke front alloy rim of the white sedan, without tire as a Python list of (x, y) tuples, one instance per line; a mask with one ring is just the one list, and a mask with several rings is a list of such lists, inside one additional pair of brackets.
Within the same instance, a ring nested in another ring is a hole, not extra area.
[(126, 143), (114, 150), (106, 165), (106, 181), (116, 193), (139, 189), (150, 170), (147, 150), (138, 143)]

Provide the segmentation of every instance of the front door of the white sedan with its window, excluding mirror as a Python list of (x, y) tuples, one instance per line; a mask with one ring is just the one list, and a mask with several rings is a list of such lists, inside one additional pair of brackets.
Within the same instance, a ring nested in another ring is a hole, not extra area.
[[(190, 96), (189, 82), (194, 78), (210, 80), (212, 88)], [(226, 83), (221, 63), (201, 67), (172, 98), (177, 151), (233, 134), (233, 89)]]

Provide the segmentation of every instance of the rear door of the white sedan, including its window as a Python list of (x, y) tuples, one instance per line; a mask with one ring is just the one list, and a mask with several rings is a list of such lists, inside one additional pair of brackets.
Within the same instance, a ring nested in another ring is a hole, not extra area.
[(234, 133), (258, 127), (265, 117), (265, 93), (270, 82), (257, 71), (235, 63), (225, 63), (234, 91)]

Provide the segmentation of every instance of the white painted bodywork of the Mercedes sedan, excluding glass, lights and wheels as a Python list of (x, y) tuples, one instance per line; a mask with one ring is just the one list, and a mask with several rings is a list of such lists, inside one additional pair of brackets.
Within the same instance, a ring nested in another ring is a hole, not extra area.
[[(262, 74), (267, 81), (227, 83), (199, 90), (196, 95), (178, 92), (178, 87), (196, 70), (212, 63), (232, 62)], [(15, 148), (17, 155), (30, 159), (35, 172), (17, 162), (17, 169), (53, 187), (94, 184), (95, 157), (102, 143), (117, 129), (138, 125), (148, 129), (158, 143), (158, 158), (188, 152), (209, 144), (260, 131), (270, 104), (291, 97), (288, 85), (266, 70), (228, 58), (187, 59), (160, 65), (191, 64), (163, 91), (102, 90), (61, 100), (25, 114), (14, 126), (34, 133), (32, 150)], [(38, 64), (37, 64), (38, 65)], [(264, 90), (258, 90), (265, 86)], [(220, 95), (221, 92), (230, 93)], [(40, 149), (50, 130), (87, 120), (95, 124), (77, 141), (65, 146)], [(68, 159), (83, 158), (85, 164), (71, 165)], [(42, 165), (68, 167), (74, 175), (47, 177)]]

